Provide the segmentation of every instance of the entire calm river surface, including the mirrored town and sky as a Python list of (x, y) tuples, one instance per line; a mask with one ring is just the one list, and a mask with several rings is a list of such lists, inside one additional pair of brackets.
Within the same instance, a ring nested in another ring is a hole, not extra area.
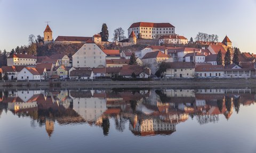
[(0, 152), (256, 152), (255, 89), (0, 91)]

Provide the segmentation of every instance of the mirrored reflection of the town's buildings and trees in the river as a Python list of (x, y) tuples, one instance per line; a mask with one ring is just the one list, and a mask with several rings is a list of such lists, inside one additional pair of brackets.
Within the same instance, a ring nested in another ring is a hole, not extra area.
[(99, 126), (104, 135), (129, 123), (134, 135), (170, 135), (189, 117), (199, 124), (218, 122), (220, 115), (228, 120), (241, 104), (254, 102), (254, 89), (0, 91), (0, 116), (10, 110), (30, 117), (31, 127), (45, 126), (49, 137), (56, 123)]

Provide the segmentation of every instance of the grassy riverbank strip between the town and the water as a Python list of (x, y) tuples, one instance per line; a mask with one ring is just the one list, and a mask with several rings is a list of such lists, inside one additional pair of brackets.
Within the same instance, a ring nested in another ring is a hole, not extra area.
[(113, 80), (30, 80), (1, 81), (0, 89), (44, 89), (44, 88), (254, 88), (256, 79), (225, 78), (225, 79), (158, 79), (148, 81), (113, 81)]

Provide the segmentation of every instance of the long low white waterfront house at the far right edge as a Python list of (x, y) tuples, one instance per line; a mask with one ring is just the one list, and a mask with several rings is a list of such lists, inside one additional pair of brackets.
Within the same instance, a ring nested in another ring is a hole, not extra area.
[(244, 68), (236, 64), (231, 64), (225, 66), (224, 71), (224, 76), (229, 78), (251, 78), (255, 74), (254, 64), (251, 66), (244, 65)]

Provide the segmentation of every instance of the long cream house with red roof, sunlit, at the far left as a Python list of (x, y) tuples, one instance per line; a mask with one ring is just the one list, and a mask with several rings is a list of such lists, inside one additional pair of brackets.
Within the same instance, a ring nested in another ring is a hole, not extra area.
[(36, 65), (36, 57), (28, 54), (13, 54), (7, 58), (7, 66)]

